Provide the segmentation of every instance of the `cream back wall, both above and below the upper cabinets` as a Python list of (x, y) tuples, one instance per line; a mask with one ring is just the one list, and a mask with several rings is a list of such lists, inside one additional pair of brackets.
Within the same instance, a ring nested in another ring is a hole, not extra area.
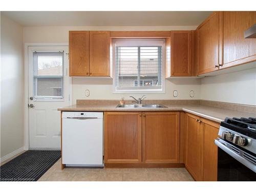
[[(70, 30), (194, 30), (197, 26), (124, 26), (124, 27), (24, 27), (24, 42), (68, 42)], [(128, 99), (131, 94), (112, 93), (112, 79), (73, 78), (72, 102), (76, 99)], [(85, 96), (85, 90), (90, 90), (90, 97)], [(178, 97), (173, 97), (173, 90), (178, 91)], [(195, 97), (189, 96), (189, 91), (195, 91)], [(133, 94), (140, 97), (142, 94)], [(164, 94), (146, 94), (147, 99), (199, 99), (199, 79), (165, 80)]]

